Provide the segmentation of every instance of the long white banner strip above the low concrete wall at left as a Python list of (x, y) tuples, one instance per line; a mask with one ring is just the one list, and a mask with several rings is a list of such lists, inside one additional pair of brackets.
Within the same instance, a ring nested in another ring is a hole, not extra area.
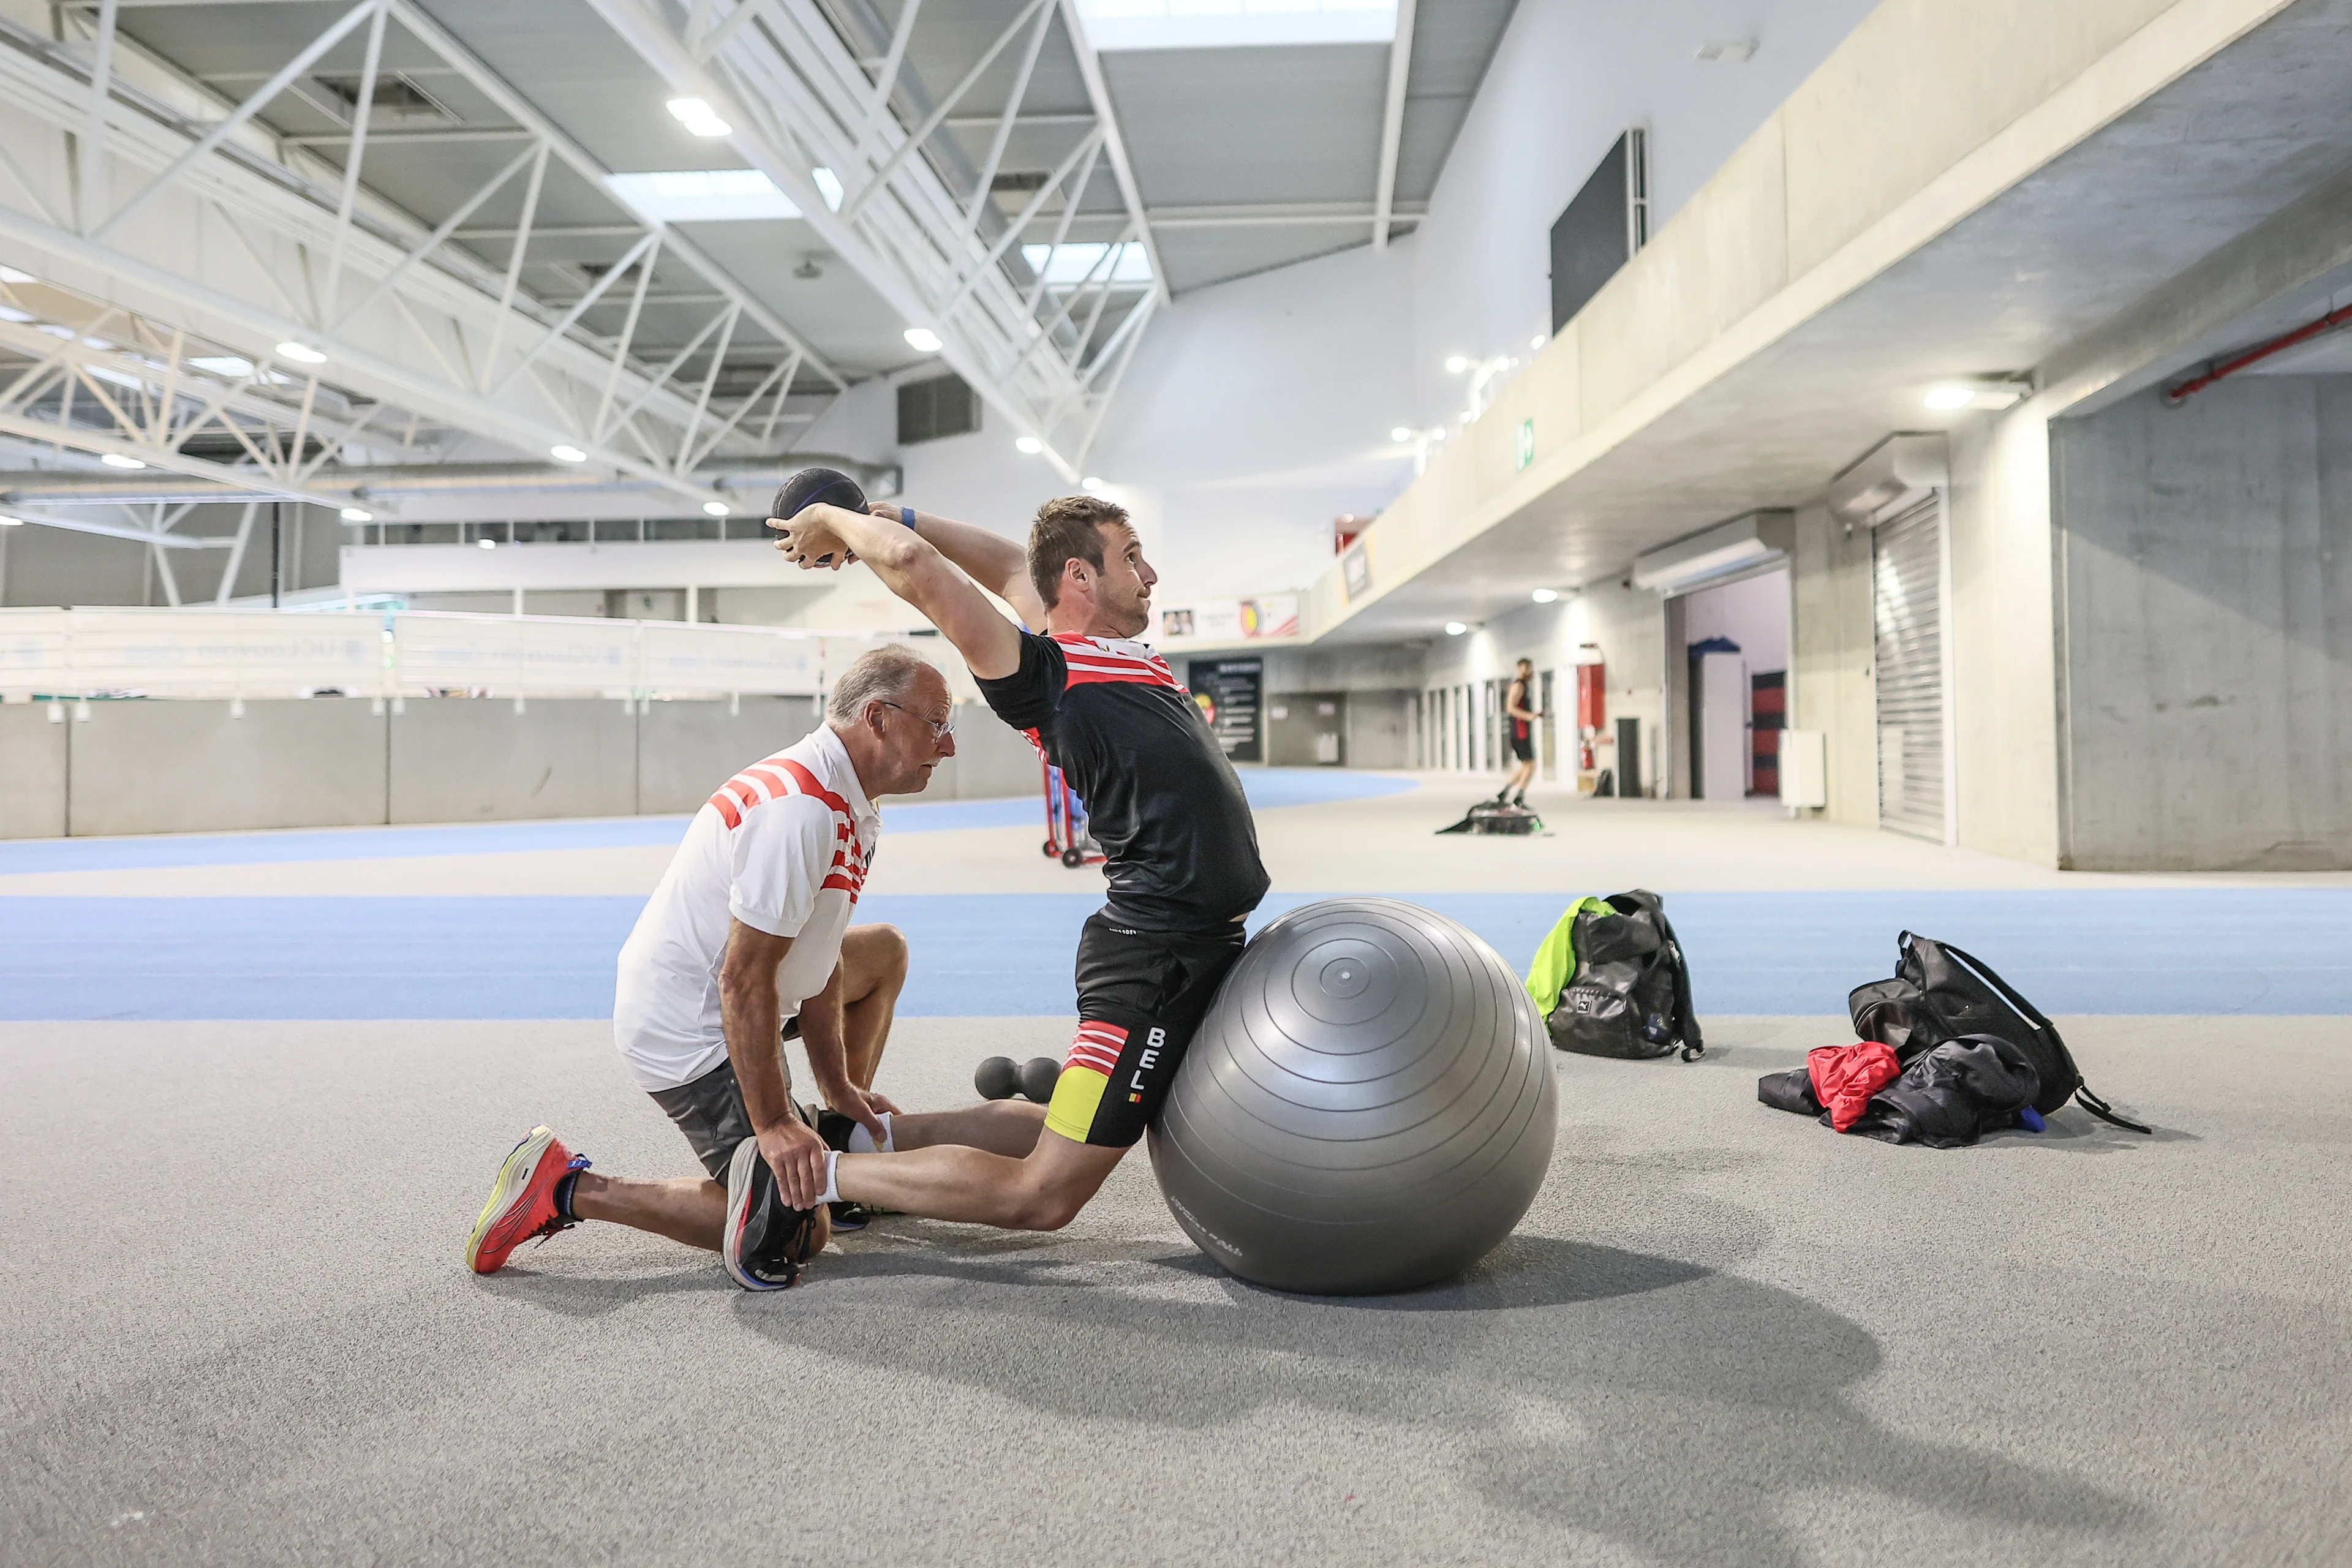
[(818, 696), (877, 642), (572, 616), (0, 609), (0, 696)]

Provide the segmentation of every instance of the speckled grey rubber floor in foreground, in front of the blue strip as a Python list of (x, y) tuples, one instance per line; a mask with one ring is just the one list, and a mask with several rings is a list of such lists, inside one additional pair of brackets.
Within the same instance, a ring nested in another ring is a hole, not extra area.
[[(1837, 1138), (1562, 1058), (1468, 1281), (1240, 1286), (1131, 1159), (1058, 1237), (884, 1220), (790, 1293), (459, 1246), (548, 1119), (689, 1173), (602, 1025), (0, 1030), (7, 1563), (2343, 1563), (2347, 1020), (2070, 1020), (2157, 1138)], [(910, 1020), (960, 1098), (1061, 1020)]]

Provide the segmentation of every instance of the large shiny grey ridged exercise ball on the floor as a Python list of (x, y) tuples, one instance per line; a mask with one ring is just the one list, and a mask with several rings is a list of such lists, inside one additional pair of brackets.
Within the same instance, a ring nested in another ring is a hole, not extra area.
[(1228, 1272), (1411, 1291), (1536, 1201), (1559, 1119), (1536, 1004), (1444, 914), (1327, 898), (1235, 961), (1150, 1131), (1160, 1192)]

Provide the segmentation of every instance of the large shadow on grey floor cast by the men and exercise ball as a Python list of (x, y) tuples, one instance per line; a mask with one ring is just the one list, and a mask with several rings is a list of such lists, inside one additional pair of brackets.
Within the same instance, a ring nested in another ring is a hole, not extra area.
[[(1515, 1237), (1449, 1286), (1301, 1298), (1167, 1246), (894, 1232), (783, 1300), (739, 1300), (739, 1319), (1049, 1420), (1200, 1429), (1305, 1408), (1336, 1434), (1409, 1429), (1494, 1507), (1656, 1561), (1795, 1566), (1809, 1552), (1785, 1521), (1823, 1495), (1992, 1530), (2138, 1523), (2060, 1472), (1879, 1425), (1846, 1399), (1882, 1361), (1858, 1324), (1675, 1258)], [(1952, 1375), (1966, 1399), (2004, 1373)]]

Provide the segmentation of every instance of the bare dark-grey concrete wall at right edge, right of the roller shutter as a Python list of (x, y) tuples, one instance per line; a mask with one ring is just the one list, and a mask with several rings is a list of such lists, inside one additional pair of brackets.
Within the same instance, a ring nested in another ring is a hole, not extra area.
[(2051, 489), (2063, 863), (2352, 867), (2352, 376), (2056, 421)]

